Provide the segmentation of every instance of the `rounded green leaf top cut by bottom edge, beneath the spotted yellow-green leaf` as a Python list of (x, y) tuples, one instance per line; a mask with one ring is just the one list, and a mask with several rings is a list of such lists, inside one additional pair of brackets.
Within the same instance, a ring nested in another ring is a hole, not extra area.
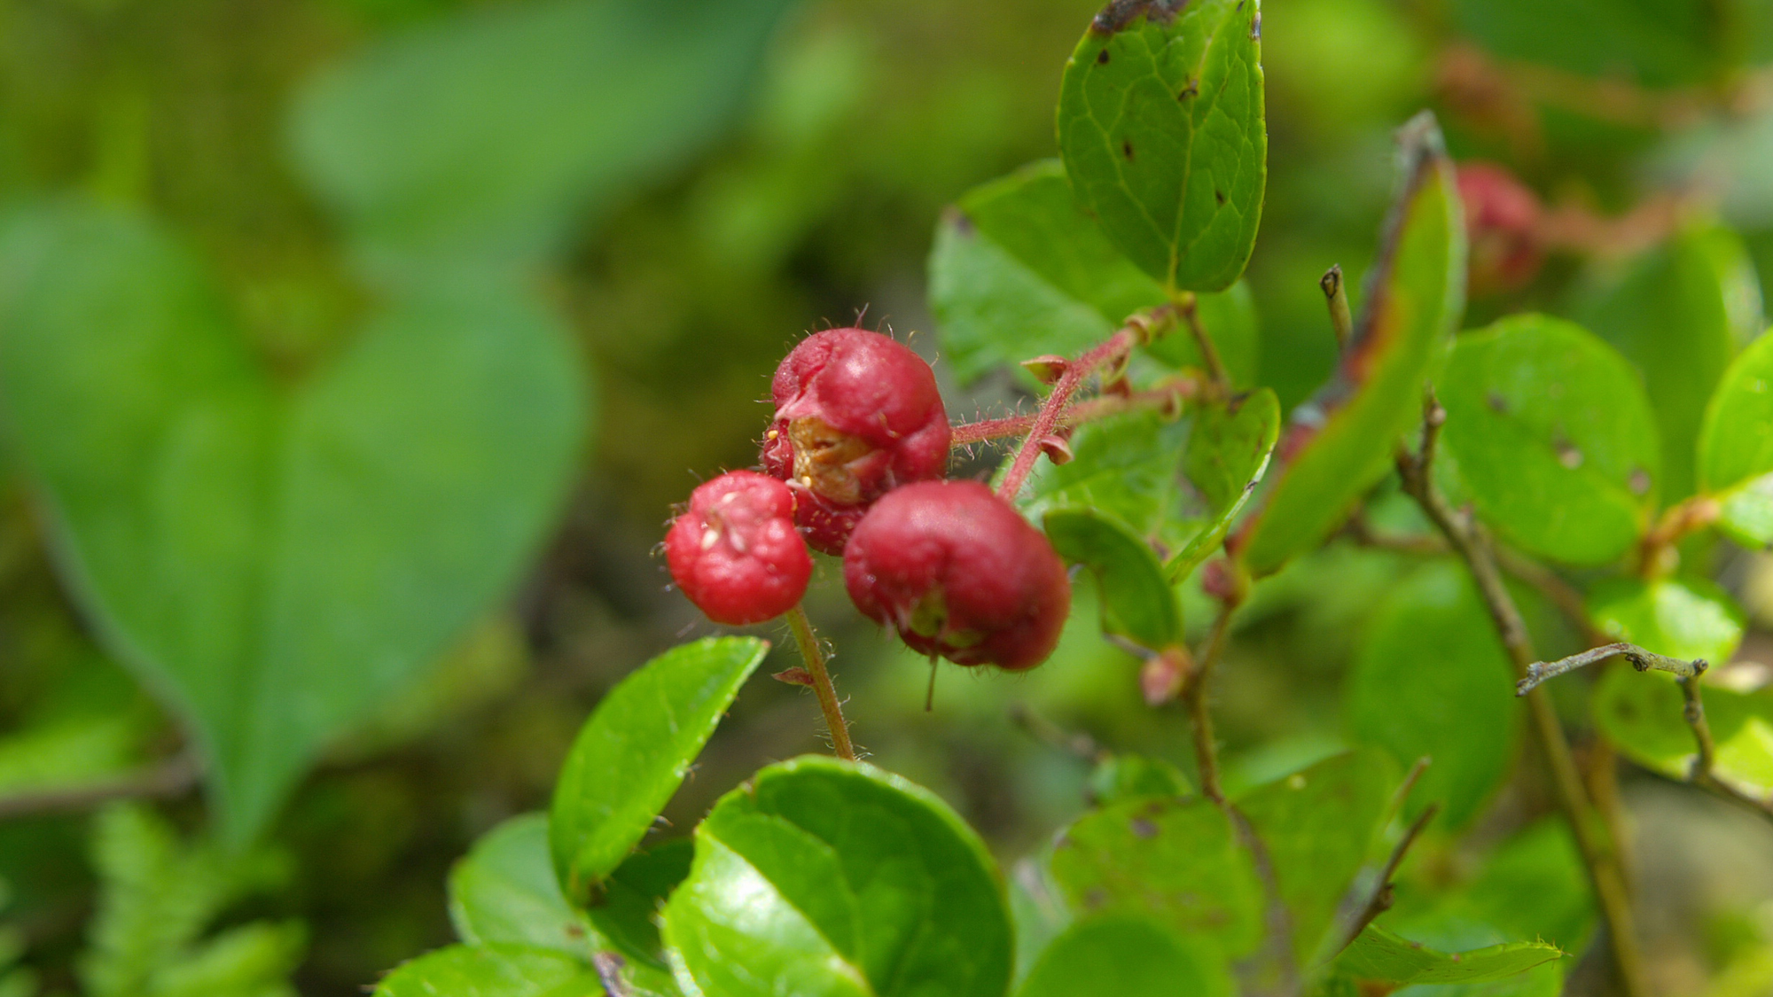
[(1018, 997), (1230, 997), (1225, 967), (1138, 915), (1078, 921), (1041, 953)]

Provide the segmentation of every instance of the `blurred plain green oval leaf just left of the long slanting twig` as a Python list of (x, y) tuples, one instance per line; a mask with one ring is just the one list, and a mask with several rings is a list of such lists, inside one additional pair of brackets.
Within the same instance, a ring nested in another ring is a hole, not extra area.
[(1347, 678), (1349, 738), (1399, 765), (1427, 756), (1408, 813), (1440, 802), (1461, 828), (1509, 773), (1519, 736), (1514, 669), (1470, 575), (1436, 562), (1379, 605)]

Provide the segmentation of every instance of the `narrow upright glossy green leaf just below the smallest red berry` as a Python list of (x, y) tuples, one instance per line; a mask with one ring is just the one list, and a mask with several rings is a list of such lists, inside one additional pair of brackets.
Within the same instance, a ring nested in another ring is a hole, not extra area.
[(768, 649), (755, 637), (683, 644), (598, 703), (548, 811), (553, 867), (567, 901), (587, 907), (640, 844)]

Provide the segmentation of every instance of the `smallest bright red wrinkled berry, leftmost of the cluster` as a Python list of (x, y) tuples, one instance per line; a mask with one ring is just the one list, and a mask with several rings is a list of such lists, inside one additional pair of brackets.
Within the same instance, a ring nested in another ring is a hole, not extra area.
[(690, 493), (665, 534), (665, 561), (683, 594), (715, 623), (743, 626), (794, 608), (812, 555), (794, 530), (794, 493), (754, 470), (732, 470)]

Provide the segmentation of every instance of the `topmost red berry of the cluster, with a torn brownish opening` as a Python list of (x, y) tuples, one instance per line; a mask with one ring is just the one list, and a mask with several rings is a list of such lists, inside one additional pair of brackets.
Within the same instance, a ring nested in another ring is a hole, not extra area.
[(769, 385), (764, 470), (794, 486), (807, 543), (842, 553), (886, 491), (949, 468), (949, 413), (929, 364), (865, 328), (808, 335)]

